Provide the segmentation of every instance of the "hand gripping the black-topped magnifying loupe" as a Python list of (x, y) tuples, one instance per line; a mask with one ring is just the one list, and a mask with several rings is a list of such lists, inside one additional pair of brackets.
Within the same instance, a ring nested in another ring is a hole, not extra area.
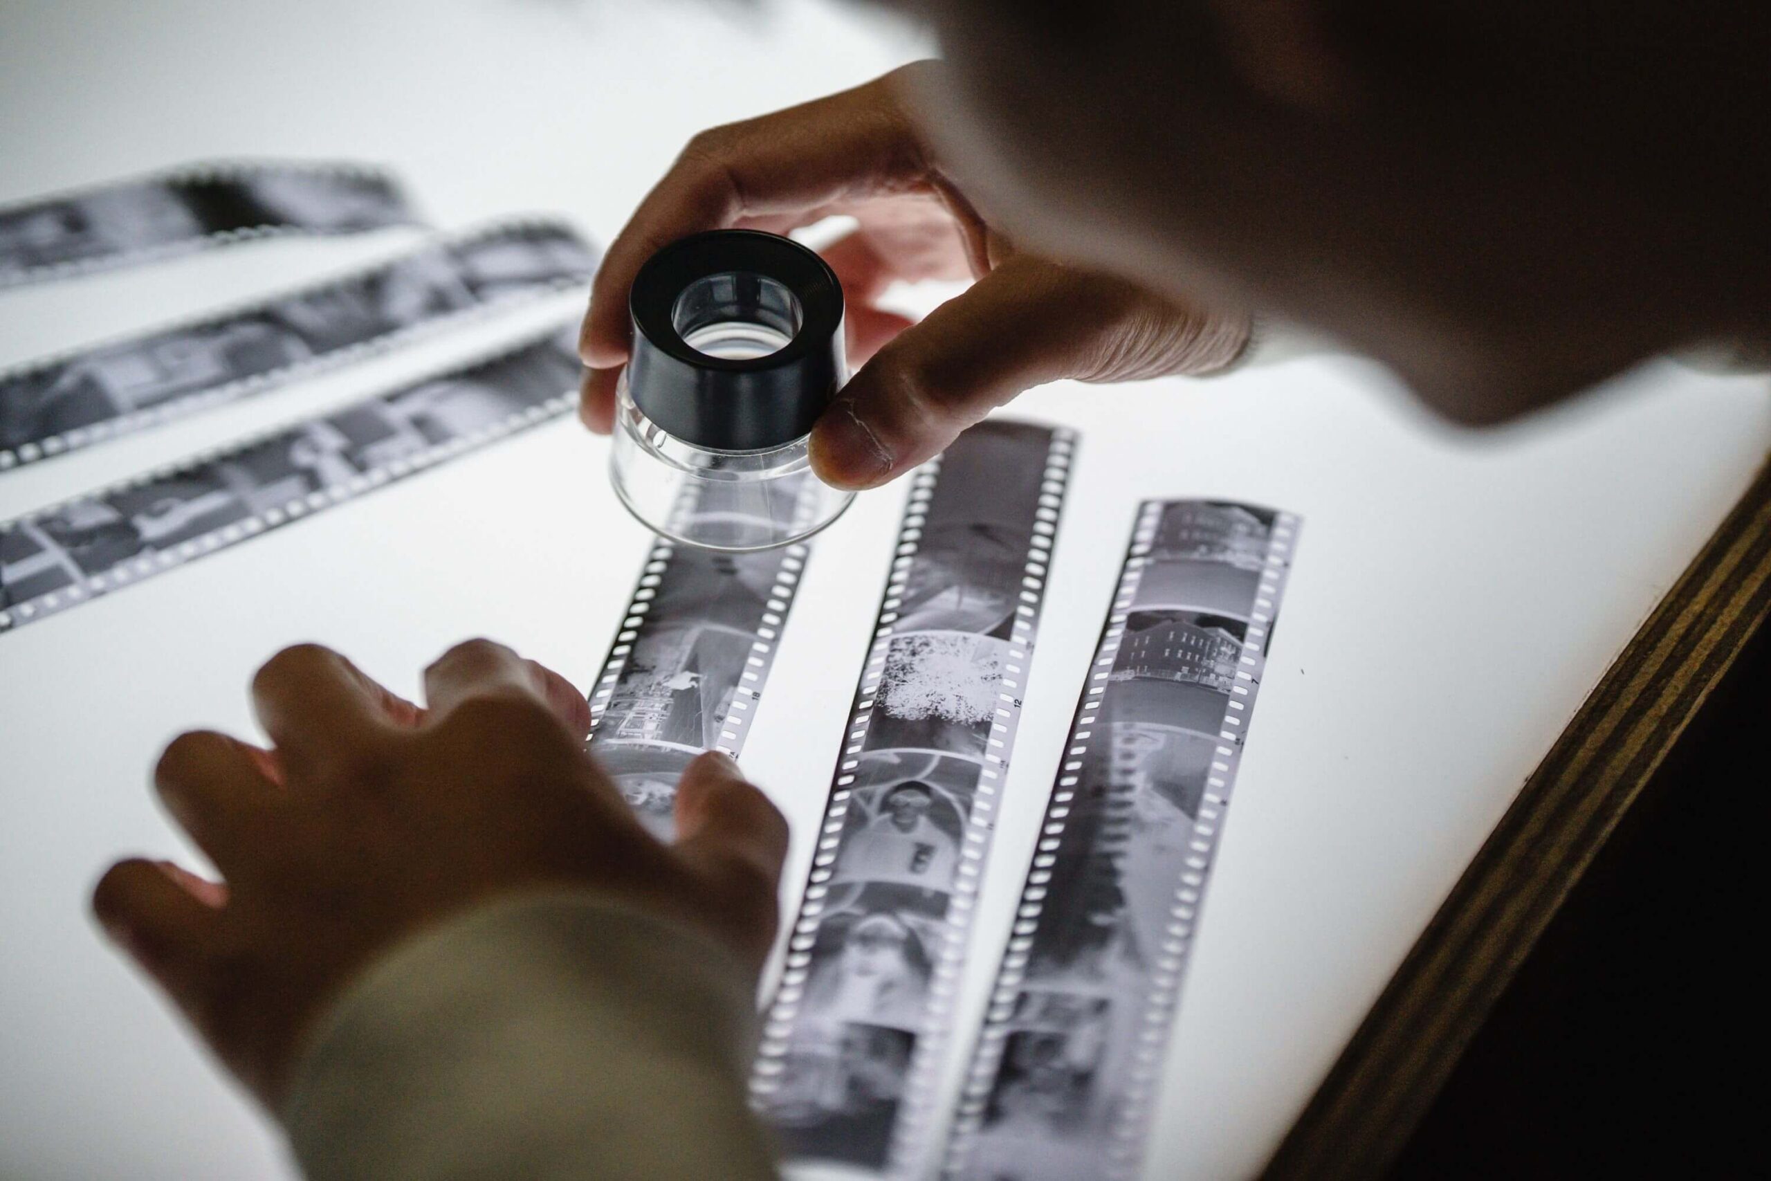
[[(1208, 374), (1249, 342), (1249, 317), (1213, 315), (1125, 280), (1018, 253), (933, 158), (905, 106), (917, 62), (854, 90), (703, 131), (634, 211), (592, 289), (579, 352), (581, 414), (615, 421), (627, 292), (659, 248), (700, 230), (774, 234), (847, 214), (824, 251), (843, 283), (861, 368), (811, 436), (827, 483), (875, 487), (1047, 381)], [(878, 306), (896, 280), (974, 278), (921, 324)]]

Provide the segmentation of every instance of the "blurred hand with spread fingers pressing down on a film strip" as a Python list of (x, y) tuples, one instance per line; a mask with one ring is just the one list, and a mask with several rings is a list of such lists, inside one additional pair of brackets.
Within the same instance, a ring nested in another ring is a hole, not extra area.
[(666, 846), (584, 753), (584, 698), (499, 645), (425, 669), (429, 708), (313, 645), (273, 657), (251, 698), (271, 749), (195, 731), (154, 770), (223, 880), (122, 861), (92, 908), (273, 1110), (356, 972), (494, 898), (583, 889), (698, 926), (760, 970), (786, 822), (726, 756), (684, 772)]

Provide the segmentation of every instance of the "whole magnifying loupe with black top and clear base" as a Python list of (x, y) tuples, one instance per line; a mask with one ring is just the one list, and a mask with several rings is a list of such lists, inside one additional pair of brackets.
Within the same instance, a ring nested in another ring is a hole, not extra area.
[(712, 230), (639, 269), (609, 475), (650, 529), (707, 549), (797, 542), (854, 492), (808, 462), (811, 425), (848, 379), (843, 289), (793, 239)]

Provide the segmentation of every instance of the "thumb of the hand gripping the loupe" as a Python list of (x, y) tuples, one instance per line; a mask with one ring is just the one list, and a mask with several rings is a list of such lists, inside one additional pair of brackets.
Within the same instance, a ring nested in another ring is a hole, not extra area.
[(1064, 377), (1210, 374), (1247, 338), (1245, 315), (1211, 315), (1114, 276), (1013, 255), (850, 379), (811, 434), (811, 464), (825, 483), (877, 487), (1022, 390)]

